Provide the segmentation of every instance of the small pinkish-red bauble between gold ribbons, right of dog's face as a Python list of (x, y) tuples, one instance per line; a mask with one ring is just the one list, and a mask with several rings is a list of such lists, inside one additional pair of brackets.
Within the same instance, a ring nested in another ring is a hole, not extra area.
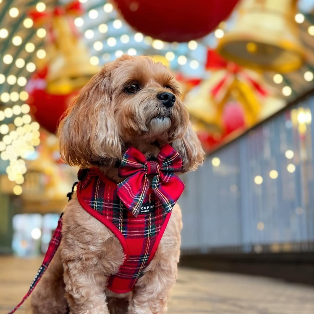
[(226, 134), (245, 126), (243, 109), (234, 102), (225, 105), (222, 119)]

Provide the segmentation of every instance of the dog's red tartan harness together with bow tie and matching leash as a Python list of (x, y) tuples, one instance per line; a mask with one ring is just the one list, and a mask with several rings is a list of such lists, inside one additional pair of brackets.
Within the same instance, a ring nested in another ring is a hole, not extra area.
[[(181, 166), (180, 155), (166, 144), (156, 161), (146, 160), (133, 147), (127, 149), (119, 167), (119, 176), (126, 179), (118, 185), (97, 168), (79, 171), (79, 203), (116, 235), (125, 255), (118, 272), (109, 276), (108, 289), (116, 293), (131, 291), (154, 257), (171, 210), (184, 189), (183, 182), (174, 174), (181, 170)], [(151, 186), (148, 175), (153, 176)], [(68, 193), (69, 200), (76, 183)], [(9, 314), (14, 313), (32, 293), (57, 252), (61, 239), (62, 215), (30, 289)]]

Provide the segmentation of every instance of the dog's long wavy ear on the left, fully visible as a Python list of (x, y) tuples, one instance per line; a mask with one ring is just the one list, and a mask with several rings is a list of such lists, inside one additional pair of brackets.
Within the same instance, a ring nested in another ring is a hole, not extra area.
[(60, 154), (69, 165), (88, 166), (93, 160), (121, 159), (121, 141), (111, 103), (111, 64), (81, 89), (60, 122)]

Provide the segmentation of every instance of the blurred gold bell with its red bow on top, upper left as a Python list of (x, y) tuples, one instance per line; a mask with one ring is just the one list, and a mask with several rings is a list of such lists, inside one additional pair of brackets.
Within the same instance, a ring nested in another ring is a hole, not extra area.
[(48, 25), (46, 91), (50, 94), (66, 95), (78, 90), (100, 70), (90, 63), (87, 47), (74, 25), (72, 15), (82, 12), (81, 3), (72, 1), (66, 7), (56, 7), (53, 12), (32, 15), (35, 23)]

